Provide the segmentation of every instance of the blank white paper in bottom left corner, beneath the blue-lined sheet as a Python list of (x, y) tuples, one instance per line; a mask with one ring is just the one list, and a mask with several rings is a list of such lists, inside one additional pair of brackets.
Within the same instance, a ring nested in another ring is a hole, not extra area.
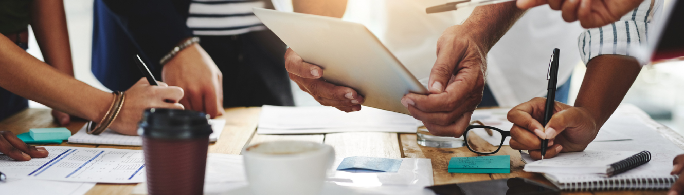
[(89, 182), (8, 178), (7, 182), (0, 182), (0, 194), (83, 195), (94, 186), (95, 183)]

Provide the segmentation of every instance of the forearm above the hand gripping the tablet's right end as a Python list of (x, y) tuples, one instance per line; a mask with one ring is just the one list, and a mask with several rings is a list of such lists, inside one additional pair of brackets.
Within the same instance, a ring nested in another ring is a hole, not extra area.
[(471, 32), (471, 38), (482, 43), (485, 53), (525, 13), (515, 3), (510, 1), (475, 7), (471, 16), (462, 24)]

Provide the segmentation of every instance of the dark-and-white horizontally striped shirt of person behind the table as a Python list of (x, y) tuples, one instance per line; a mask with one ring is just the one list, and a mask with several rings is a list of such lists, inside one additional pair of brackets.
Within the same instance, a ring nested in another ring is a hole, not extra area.
[(254, 0), (192, 0), (187, 27), (195, 35), (239, 35), (261, 31), (266, 26), (254, 16), (252, 7), (264, 7)]

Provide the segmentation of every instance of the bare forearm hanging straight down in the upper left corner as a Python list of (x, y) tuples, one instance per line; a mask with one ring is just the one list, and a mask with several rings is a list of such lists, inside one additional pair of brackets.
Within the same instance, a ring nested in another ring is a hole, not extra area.
[(60, 72), (74, 76), (69, 34), (62, 0), (34, 0), (31, 5), (31, 27), (45, 63)]

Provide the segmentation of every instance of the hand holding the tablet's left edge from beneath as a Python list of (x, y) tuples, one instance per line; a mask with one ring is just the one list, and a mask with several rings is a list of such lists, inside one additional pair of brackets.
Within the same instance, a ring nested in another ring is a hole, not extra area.
[(361, 110), (361, 95), (352, 88), (334, 85), (321, 78), (323, 69), (306, 63), (291, 48), (285, 52), (285, 68), (290, 79), (297, 82), (302, 91), (313, 96), (321, 105), (332, 106), (345, 112)]

